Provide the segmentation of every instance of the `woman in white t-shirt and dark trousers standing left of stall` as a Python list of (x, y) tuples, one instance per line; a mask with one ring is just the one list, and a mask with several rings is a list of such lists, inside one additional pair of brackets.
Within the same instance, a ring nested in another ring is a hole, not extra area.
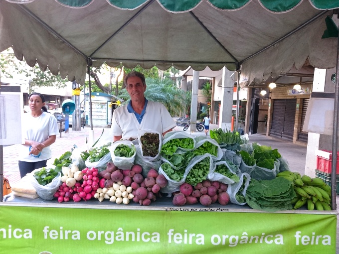
[(47, 113), (45, 98), (40, 93), (28, 97), (30, 112), (22, 119), (25, 143), (19, 151), (19, 171), (21, 178), (34, 169), (45, 167), (52, 157), (50, 145), (55, 142), (59, 128), (56, 118)]

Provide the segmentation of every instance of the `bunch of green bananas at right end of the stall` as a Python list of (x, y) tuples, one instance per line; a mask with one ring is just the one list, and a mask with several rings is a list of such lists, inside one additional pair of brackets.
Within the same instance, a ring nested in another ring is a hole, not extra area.
[(321, 178), (301, 176), (298, 172), (283, 171), (277, 177), (291, 181), (297, 196), (292, 200), (293, 209), (307, 205), (308, 210), (331, 211), (331, 186)]

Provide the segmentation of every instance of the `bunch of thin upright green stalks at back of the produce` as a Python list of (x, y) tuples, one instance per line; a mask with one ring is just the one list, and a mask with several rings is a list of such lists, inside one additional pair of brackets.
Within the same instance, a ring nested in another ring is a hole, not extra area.
[(221, 128), (211, 129), (210, 136), (218, 142), (220, 147), (232, 151), (240, 151), (240, 145), (246, 143), (246, 141), (240, 137), (240, 133), (236, 130), (231, 131), (226, 129), (226, 131), (224, 131)]

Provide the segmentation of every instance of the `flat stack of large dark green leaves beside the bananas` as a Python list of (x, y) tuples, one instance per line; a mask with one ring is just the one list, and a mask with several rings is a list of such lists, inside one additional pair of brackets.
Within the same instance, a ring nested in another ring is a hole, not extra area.
[(291, 210), (291, 201), (296, 197), (292, 182), (284, 177), (272, 180), (255, 180), (246, 190), (246, 202), (253, 209), (267, 212)]

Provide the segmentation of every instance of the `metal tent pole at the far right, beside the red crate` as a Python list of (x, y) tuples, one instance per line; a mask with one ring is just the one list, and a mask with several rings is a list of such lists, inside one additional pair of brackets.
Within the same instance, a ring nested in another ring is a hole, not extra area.
[(338, 107), (339, 107), (339, 37), (337, 44), (337, 68), (335, 85), (335, 107), (333, 116), (331, 195), (332, 210), (337, 210), (337, 150), (338, 150)]

